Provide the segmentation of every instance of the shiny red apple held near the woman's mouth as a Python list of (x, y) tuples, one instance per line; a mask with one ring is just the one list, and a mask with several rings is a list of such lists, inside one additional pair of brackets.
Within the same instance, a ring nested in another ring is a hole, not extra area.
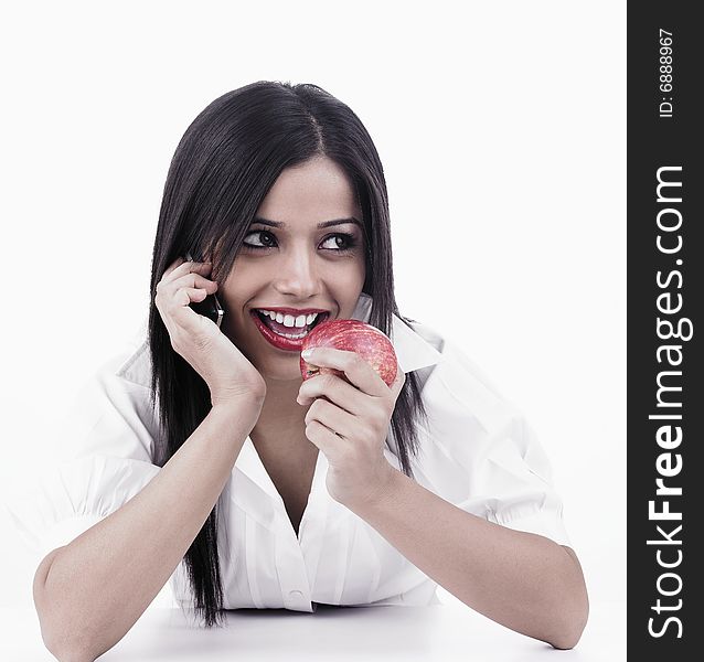
[[(359, 320), (327, 320), (313, 327), (303, 339), (301, 352), (313, 348), (333, 348), (356, 352), (391, 386), (396, 378), (396, 352), (394, 345), (376, 327)], [(300, 357), (300, 372), (303, 381), (317, 375), (332, 373), (346, 381), (342, 371), (332, 367), (319, 367)]]

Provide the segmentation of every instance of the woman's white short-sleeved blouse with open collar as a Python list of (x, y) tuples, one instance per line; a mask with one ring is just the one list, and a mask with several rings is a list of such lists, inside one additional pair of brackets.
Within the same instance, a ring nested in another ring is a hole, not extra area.
[[(369, 320), (362, 295), (353, 314)], [(428, 425), (419, 429), (416, 481), (457, 508), (569, 545), (562, 501), (543, 449), (522, 414), (452, 343), (394, 317), (391, 340), (405, 373), (417, 371)], [(21, 534), (43, 558), (137, 494), (160, 470), (150, 407), (147, 324), (103, 365), (76, 398), (60, 440), (66, 461), (30, 494), (9, 503)], [(391, 429), (391, 428), (390, 428)], [(399, 468), (392, 439), (384, 453)], [(327, 605), (438, 604), (437, 584), (326, 488), (319, 452), (296, 535), (284, 501), (249, 437), (220, 499), (224, 607), (314, 611)], [(192, 606), (185, 565), (171, 577), (177, 601)]]

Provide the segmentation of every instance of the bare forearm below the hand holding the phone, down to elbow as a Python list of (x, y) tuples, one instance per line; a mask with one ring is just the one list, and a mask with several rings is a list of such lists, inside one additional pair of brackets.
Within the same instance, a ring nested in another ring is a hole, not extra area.
[(34, 601), (55, 655), (92, 660), (135, 624), (201, 530), (248, 434), (236, 407), (213, 408), (141, 492), (40, 565)]

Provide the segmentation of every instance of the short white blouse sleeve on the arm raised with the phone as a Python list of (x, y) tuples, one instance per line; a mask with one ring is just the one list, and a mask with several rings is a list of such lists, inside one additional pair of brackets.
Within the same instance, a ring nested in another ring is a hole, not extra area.
[(56, 461), (6, 500), (20, 535), (41, 558), (127, 503), (159, 472), (149, 389), (124, 370), (143, 360), (146, 349), (130, 346), (96, 371), (56, 430)]

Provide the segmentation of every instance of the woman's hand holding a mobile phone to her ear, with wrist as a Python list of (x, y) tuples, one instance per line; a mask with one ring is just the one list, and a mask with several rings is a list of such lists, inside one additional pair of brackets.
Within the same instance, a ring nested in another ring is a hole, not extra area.
[(210, 263), (179, 257), (157, 285), (154, 303), (171, 346), (203, 377), (214, 407), (243, 398), (263, 404), (266, 382), (257, 369), (213, 320), (190, 308), (191, 302), (203, 301), (217, 290), (217, 282), (205, 278), (211, 268)]

